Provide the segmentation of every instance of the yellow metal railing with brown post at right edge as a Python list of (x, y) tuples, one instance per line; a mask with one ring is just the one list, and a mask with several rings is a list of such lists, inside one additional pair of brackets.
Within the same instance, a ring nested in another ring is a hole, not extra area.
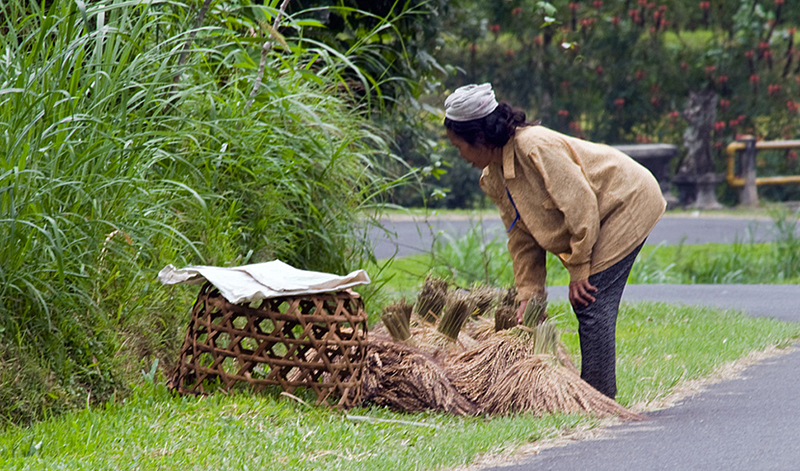
[[(800, 175), (786, 175), (776, 177), (756, 177), (756, 152), (760, 150), (780, 150), (800, 147), (800, 140), (785, 141), (760, 141), (754, 137), (746, 136), (728, 144), (728, 185), (742, 187), (739, 194), (739, 204), (743, 206), (757, 206), (759, 185), (785, 185), (787, 183), (800, 183)], [(742, 152), (740, 163), (741, 175), (736, 176), (736, 153)]]

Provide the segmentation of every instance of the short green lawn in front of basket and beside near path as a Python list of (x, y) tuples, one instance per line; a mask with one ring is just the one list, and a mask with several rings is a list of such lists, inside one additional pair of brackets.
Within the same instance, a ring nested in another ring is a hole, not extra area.
[[(550, 312), (576, 352), (574, 315), (565, 303)], [(799, 336), (796, 324), (733, 312), (623, 304), (618, 399), (638, 408), (751, 351), (787, 346)], [(586, 416), (457, 418), (380, 408), (345, 414), (273, 395), (172, 397), (158, 381), (123, 402), (6, 429), (0, 468), (437, 469), (597, 425)]]

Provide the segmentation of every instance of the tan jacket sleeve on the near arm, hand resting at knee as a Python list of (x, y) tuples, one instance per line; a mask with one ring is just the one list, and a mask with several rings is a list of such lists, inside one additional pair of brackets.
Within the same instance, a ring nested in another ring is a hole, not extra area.
[(530, 157), (570, 234), (569, 253), (559, 257), (571, 281), (585, 280), (591, 273), (592, 250), (600, 232), (597, 196), (566, 144), (533, 148)]

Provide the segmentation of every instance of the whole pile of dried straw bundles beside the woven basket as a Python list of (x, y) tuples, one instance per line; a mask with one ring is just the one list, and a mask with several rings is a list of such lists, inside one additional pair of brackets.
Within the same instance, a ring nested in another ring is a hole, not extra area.
[(394, 341), (370, 341), (364, 399), (411, 412), (638, 418), (580, 378), (545, 301), (529, 301), (517, 326), (515, 298), (513, 289), (448, 291), (428, 277), (408, 317), (398, 314), (407, 307), (384, 311)]

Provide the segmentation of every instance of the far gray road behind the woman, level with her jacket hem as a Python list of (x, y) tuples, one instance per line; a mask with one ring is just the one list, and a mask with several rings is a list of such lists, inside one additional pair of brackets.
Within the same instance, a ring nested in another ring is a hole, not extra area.
[[(388, 233), (378, 229), (373, 231), (375, 255), (389, 258), (397, 252), (403, 257), (431, 249), (433, 240), (458, 238), (467, 234), (478, 222), (486, 239), (500, 237), (505, 240), (503, 223), (497, 217), (483, 221), (468, 219), (431, 219), (426, 221), (385, 220)], [(797, 228), (800, 235), (800, 227)], [(658, 222), (648, 244), (705, 244), (709, 242), (766, 242), (778, 236), (778, 230), (771, 219), (746, 219), (734, 217), (691, 217), (665, 216)]]

